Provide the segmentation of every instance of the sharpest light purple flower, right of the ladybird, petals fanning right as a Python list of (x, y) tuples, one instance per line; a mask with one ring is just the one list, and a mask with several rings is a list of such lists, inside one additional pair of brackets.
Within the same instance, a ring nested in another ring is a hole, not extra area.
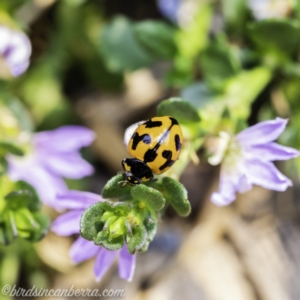
[[(275, 191), (285, 191), (292, 185), (291, 180), (272, 163), (300, 154), (296, 149), (273, 142), (284, 131), (287, 122), (281, 118), (261, 122), (231, 139), (223, 133), (223, 142), (220, 143), (222, 154), (219, 152), (210, 159), (213, 164), (222, 160), (219, 191), (211, 196), (214, 204), (231, 203), (236, 198), (236, 192), (247, 192), (253, 184)], [(224, 137), (227, 142), (224, 142)], [(224, 147), (225, 144), (227, 147)]]

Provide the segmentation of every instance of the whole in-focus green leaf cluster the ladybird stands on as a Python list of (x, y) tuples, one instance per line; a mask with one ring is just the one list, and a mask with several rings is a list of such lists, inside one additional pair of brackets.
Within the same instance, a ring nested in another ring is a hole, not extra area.
[(124, 188), (120, 185), (122, 183), (121, 174), (114, 176), (103, 188), (102, 196), (126, 198), (125, 201), (98, 202), (82, 214), (80, 233), (96, 245), (117, 250), (126, 243), (131, 254), (146, 251), (157, 229), (155, 211), (165, 209), (165, 198), (178, 214), (190, 212), (187, 192), (174, 179), (165, 177), (159, 183), (149, 181), (147, 185), (127, 185)]

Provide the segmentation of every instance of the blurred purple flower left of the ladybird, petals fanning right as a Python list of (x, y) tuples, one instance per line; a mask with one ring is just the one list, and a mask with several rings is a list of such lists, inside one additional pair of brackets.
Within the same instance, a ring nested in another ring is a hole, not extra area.
[(93, 173), (93, 167), (82, 159), (79, 149), (90, 145), (94, 137), (93, 131), (82, 126), (36, 133), (29, 142), (30, 153), (7, 156), (8, 176), (14, 181), (28, 182), (43, 202), (57, 208), (57, 194), (67, 191), (63, 177), (79, 179)]

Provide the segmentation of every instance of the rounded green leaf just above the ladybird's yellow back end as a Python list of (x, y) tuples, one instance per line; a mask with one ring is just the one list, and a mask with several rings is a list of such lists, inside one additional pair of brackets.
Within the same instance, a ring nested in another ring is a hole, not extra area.
[(174, 117), (179, 124), (200, 121), (197, 110), (181, 98), (170, 98), (162, 101), (157, 107), (157, 115)]

